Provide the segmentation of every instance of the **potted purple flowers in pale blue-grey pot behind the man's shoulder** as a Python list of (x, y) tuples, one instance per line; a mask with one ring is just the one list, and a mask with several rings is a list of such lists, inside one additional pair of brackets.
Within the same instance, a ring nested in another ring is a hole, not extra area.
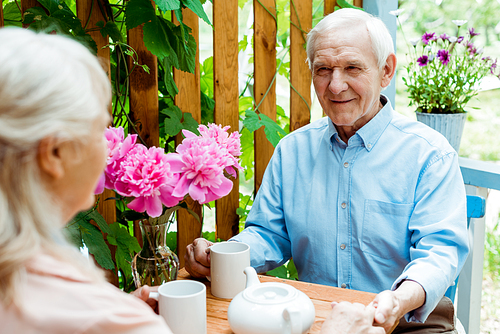
[[(398, 17), (401, 13), (392, 14)], [(401, 25), (399, 17), (398, 23)], [(460, 33), (467, 21), (453, 23), (457, 26), (453, 36), (426, 32), (410, 40), (409, 63), (402, 79), (417, 120), (441, 132), (458, 152), (466, 105), (477, 95), (486, 75), (497, 75), (497, 60), (483, 55), (483, 49), (474, 44), (479, 35), (474, 28)]]

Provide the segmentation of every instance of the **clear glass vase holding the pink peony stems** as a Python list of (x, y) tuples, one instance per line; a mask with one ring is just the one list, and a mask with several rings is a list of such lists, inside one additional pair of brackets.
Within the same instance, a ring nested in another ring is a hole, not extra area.
[(132, 275), (136, 288), (155, 286), (177, 279), (179, 259), (167, 246), (168, 223), (139, 222), (142, 250), (132, 261)]

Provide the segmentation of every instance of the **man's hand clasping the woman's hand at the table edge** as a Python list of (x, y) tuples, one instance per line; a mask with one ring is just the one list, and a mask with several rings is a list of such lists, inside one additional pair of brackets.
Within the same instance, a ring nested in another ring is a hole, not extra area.
[(374, 324), (382, 326), (386, 332), (406, 313), (425, 303), (425, 291), (415, 281), (403, 281), (395, 291), (382, 291), (370, 303), (375, 311)]

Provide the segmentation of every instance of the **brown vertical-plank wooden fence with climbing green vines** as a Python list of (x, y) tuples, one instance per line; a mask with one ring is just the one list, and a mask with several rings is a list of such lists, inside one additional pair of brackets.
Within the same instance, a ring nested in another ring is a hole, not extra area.
[[(98, 21), (104, 21), (97, 8), (97, 1), (76, 0), (77, 16), (83, 22), (89, 21), (93, 27)], [(21, 9), (37, 6), (36, 0), (21, 0)], [(354, 0), (354, 5), (362, 7), (362, 0)], [(336, 0), (324, 1), (324, 13), (331, 13)], [(265, 7), (265, 8), (264, 8)], [(276, 9), (274, 0), (254, 0), (254, 96), (260, 104), (258, 112), (276, 119), (276, 90), (273, 78), (276, 73)], [(290, 24), (290, 131), (309, 123), (311, 105), (311, 73), (305, 62), (305, 34), (312, 25), (312, 0), (291, 0)], [(273, 17), (274, 15), (274, 17)], [(90, 17), (89, 17), (90, 16)], [(183, 12), (183, 21), (192, 28), (192, 34), (198, 44), (198, 17), (189, 9)], [(174, 18), (175, 21), (175, 18)], [(214, 118), (216, 124), (230, 125), (231, 130), (239, 128), (238, 107), (238, 1), (213, 1), (213, 69), (214, 69)], [(3, 26), (2, 6), (0, 6), (0, 27)], [(109, 59), (108, 38), (99, 31), (90, 32), (97, 43), (98, 55)], [(130, 113), (131, 118), (140, 120), (139, 134), (148, 145), (159, 145), (159, 106), (157, 59), (144, 46), (142, 26), (128, 31), (128, 44), (137, 51), (138, 62), (150, 68), (147, 74), (140, 67), (130, 77)], [(174, 71), (174, 79), (179, 88), (175, 104), (183, 111), (190, 112), (193, 118), (201, 120), (200, 73), (198, 52), (196, 55), (195, 74)], [(109, 63), (105, 70), (110, 73)], [(272, 85), (269, 92), (269, 86)], [(293, 86), (293, 87), (292, 87)], [(180, 138), (179, 138), (180, 139)], [(273, 154), (273, 146), (266, 139), (261, 128), (255, 132), (255, 191), (260, 187), (266, 166)], [(216, 237), (227, 240), (238, 233), (239, 217), (239, 180), (234, 181), (231, 194), (216, 201)], [(104, 193), (104, 198), (113, 193)], [(201, 216), (201, 207), (191, 203), (194, 211)], [(115, 203), (101, 201), (100, 212), (108, 223), (116, 220)], [(177, 249), (181, 266), (184, 263), (186, 246), (200, 236), (200, 224), (187, 211), (181, 210), (178, 216)]]

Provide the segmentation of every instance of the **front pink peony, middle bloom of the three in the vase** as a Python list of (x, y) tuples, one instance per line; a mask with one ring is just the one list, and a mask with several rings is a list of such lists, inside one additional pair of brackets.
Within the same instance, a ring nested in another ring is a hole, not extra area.
[(136, 144), (120, 162), (115, 181), (116, 192), (122, 196), (135, 197), (128, 207), (137, 212), (146, 211), (151, 217), (162, 214), (162, 204), (172, 207), (184, 196), (172, 192), (179, 181), (173, 173), (163, 149)]

